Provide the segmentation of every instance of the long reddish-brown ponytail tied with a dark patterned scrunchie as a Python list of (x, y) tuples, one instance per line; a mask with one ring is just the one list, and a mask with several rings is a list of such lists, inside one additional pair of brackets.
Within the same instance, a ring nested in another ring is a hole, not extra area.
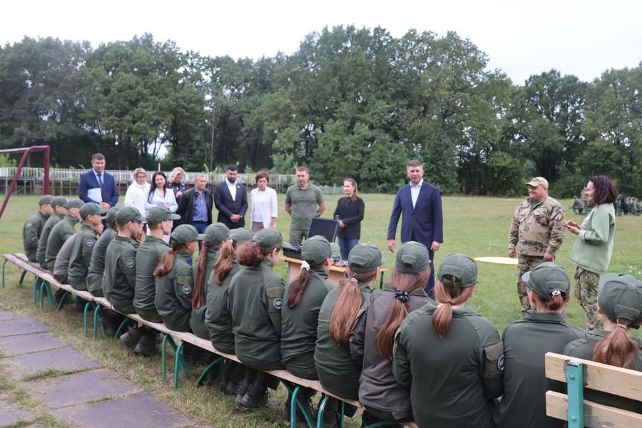
[(422, 270), (419, 275), (399, 272), (396, 267), (392, 269), (391, 285), (394, 287), (395, 299), (390, 306), (386, 320), (379, 329), (379, 332), (377, 332), (377, 337), (375, 338), (379, 355), (384, 359), (392, 360), (394, 333), (397, 332), (399, 325), (401, 325), (410, 311), (410, 307), (407, 304), (408, 294), (417, 290), (417, 288), (425, 287), (429, 277), (430, 267)]

